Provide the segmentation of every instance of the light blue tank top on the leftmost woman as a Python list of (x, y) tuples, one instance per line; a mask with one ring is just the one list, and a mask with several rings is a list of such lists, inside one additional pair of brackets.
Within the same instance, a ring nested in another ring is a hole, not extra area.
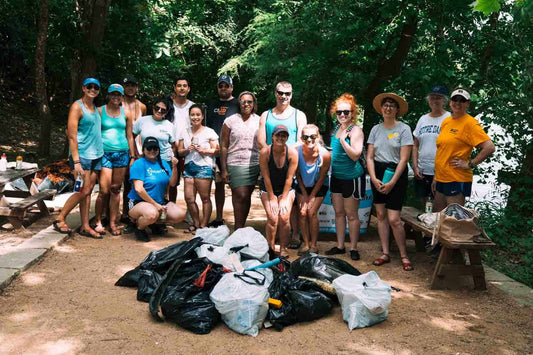
[(78, 154), (85, 159), (98, 159), (104, 155), (102, 146), (102, 119), (95, 108), (89, 112), (81, 100), (76, 101), (83, 111), (78, 122)]

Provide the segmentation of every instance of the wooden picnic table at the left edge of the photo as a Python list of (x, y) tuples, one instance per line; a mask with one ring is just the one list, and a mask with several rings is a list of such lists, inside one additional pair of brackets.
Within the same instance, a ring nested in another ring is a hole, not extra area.
[[(56, 190), (48, 189), (32, 194), (31, 183), (38, 168), (30, 169), (7, 169), (0, 172), (0, 216), (8, 216), (9, 222), (14, 228), (22, 228), (22, 222), (26, 216), (27, 210), (37, 205), (40, 215), (47, 216), (50, 214), (43, 200), (51, 199), (55, 196)], [(23, 179), (28, 187), (28, 191), (5, 190), (5, 185), (17, 179)], [(19, 197), (22, 200), (9, 203), (6, 197)]]

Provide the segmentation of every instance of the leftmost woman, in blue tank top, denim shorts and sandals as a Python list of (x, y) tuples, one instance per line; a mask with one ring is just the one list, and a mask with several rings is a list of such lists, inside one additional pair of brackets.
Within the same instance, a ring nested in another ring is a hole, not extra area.
[(83, 96), (70, 106), (67, 123), (70, 165), (74, 176), (83, 179), (80, 191), (70, 196), (54, 221), (54, 229), (60, 233), (71, 230), (65, 218), (74, 207), (80, 204), (80, 235), (101, 239), (102, 236), (89, 225), (89, 204), (91, 192), (96, 184), (98, 171), (101, 169), (102, 147), (101, 118), (94, 105), (94, 99), (100, 93), (100, 82), (87, 78), (82, 86)]

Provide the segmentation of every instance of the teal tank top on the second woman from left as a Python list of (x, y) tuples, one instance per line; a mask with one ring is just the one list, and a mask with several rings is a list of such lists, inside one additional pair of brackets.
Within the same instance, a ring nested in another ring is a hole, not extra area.
[(102, 143), (104, 152), (115, 153), (129, 150), (124, 108), (120, 108), (118, 117), (109, 116), (106, 109), (107, 105), (104, 105), (102, 107)]

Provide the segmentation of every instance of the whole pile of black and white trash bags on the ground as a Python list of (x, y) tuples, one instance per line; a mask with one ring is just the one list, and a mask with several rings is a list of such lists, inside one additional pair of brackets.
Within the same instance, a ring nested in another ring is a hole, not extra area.
[(196, 334), (223, 321), (257, 336), (263, 327), (320, 319), (342, 307), (350, 330), (387, 319), (391, 287), (374, 271), (307, 253), (293, 263), (269, 260), (269, 246), (252, 227), (230, 235), (227, 226), (203, 228), (196, 237), (153, 251), (116, 286), (136, 287), (154, 319)]

